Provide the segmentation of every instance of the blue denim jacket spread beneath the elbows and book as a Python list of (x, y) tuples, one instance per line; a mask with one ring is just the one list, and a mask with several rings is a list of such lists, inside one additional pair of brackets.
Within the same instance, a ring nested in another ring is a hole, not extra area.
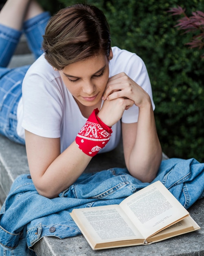
[[(187, 209), (204, 196), (203, 170), (195, 159), (168, 159), (153, 182), (160, 180)], [(37, 193), (29, 175), (21, 175), (0, 212), (0, 255), (35, 255), (32, 246), (44, 236), (77, 236), (81, 232), (69, 214), (73, 208), (119, 204), (147, 185), (126, 168), (112, 168), (84, 173), (58, 198), (48, 199)]]

